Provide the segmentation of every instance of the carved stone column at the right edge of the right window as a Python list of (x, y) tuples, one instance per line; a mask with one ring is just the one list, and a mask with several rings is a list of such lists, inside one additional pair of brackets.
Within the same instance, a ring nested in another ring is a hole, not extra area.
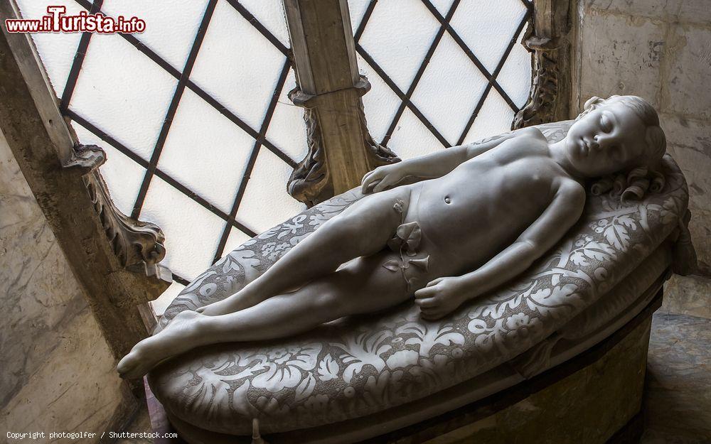
[(571, 117), (570, 7), (569, 0), (533, 2), (533, 26), (523, 42), (533, 52), (531, 90), (511, 129)]

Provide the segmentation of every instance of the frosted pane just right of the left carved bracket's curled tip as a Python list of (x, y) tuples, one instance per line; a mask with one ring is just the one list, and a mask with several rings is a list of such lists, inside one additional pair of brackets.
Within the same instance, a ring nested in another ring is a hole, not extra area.
[(161, 264), (192, 280), (215, 259), (225, 221), (158, 177), (151, 180), (141, 220), (158, 224), (166, 234)]

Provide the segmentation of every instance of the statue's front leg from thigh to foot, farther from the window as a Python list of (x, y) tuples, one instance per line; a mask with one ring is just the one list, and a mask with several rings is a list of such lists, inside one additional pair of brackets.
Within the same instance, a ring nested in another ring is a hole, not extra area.
[(383, 268), (390, 251), (360, 258), (343, 269), (228, 315), (183, 311), (118, 364), (122, 377), (141, 377), (163, 359), (220, 342), (269, 340), (299, 334), (346, 315), (383, 310), (410, 297), (400, 273)]

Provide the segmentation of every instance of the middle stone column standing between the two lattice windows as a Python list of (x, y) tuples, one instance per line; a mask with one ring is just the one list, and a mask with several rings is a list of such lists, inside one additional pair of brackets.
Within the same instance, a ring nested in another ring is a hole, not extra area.
[(304, 107), (309, 153), (294, 168), (287, 189), (314, 205), (353, 188), (368, 171), (400, 161), (370, 137), (358, 75), (347, 0), (284, 0), (297, 87), (289, 93)]

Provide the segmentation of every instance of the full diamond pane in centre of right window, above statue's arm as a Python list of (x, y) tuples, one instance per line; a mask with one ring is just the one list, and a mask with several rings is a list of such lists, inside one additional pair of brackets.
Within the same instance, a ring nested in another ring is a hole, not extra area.
[(456, 144), (486, 85), (486, 77), (445, 33), (412, 94), (412, 102), (444, 139)]

